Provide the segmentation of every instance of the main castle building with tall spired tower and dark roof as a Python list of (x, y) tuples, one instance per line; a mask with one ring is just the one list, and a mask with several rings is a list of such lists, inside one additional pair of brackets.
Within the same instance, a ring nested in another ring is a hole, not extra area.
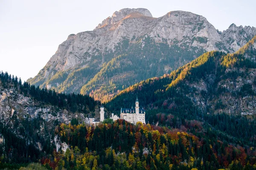
[(145, 123), (145, 110), (139, 107), (139, 100), (138, 97), (135, 102), (135, 109), (133, 107), (131, 108), (121, 108), (120, 118), (114, 113), (111, 115), (112, 117), (110, 119), (113, 119), (113, 121), (116, 121), (117, 119), (124, 119), (127, 122), (136, 124), (137, 122)]

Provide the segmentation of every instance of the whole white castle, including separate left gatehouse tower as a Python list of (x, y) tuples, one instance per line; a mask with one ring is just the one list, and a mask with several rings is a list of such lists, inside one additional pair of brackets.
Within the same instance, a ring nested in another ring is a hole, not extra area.
[[(104, 121), (104, 107), (100, 107), (100, 122)], [(117, 115), (114, 115), (114, 113), (111, 114), (111, 118), (113, 121), (116, 121), (117, 119), (124, 119), (127, 122), (136, 124), (137, 122), (145, 123), (145, 110), (139, 107), (139, 100), (138, 97), (135, 102), (135, 109), (133, 107), (131, 108), (121, 108), (120, 117)], [(99, 122), (94, 122), (94, 118), (89, 118), (89, 124), (90, 125), (97, 125)]]

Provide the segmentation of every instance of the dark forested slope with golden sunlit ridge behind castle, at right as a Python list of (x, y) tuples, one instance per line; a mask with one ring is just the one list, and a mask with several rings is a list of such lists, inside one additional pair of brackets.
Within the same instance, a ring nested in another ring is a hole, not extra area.
[(106, 108), (119, 114), (119, 108), (131, 107), (138, 96), (146, 123), (177, 128), (196, 120), (220, 132), (220, 138), (254, 146), (255, 58), (256, 36), (236, 53), (207, 52), (171, 74), (132, 85)]

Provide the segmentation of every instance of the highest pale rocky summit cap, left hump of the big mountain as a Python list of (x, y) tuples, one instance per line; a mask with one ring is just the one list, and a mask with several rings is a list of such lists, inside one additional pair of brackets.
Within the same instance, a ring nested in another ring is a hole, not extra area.
[(152, 17), (150, 11), (148, 11), (148, 9), (145, 8), (123, 8), (119, 11), (115, 11), (112, 17), (108, 17), (105, 20), (103, 20), (102, 23), (99, 24), (95, 29), (102, 28), (107, 25), (116, 24), (130, 14), (140, 14), (145, 17)]

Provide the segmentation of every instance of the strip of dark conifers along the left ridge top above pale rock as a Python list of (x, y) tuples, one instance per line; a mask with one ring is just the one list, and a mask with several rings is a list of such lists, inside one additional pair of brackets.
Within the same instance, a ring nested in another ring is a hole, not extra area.
[(27, 82), (22, 83), (21, 79), (7, 72), (3, 73), (3, 71), (0, 73), (0, 83), (3, 88), (16, 88), (20, 94), (29, 96), (36, 102), (65, 108), (71, 112), (78, 111), (86, 114), (94, 111), (95, 106), (99, 103), (88, 95), (56, 93), (55, 90), (41, 89), (39, 86), (35, 87)]

